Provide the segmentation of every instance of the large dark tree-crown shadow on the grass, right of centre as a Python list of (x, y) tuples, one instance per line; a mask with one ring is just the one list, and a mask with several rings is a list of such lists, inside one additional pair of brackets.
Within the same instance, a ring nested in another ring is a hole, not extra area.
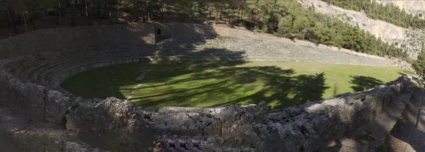
[[(260, 101), (266, 101), (268, 106), (273, 109), (278, 109), (321, 100), (324, 90), (329, 88), (329, 86), (324, 83), (324, 73), (291, 76), (295, 74), (293, 73), (293, 69), (283, 72), (288, 71), (291, 72), (287, 73), (288, 75), (286, 76), (281, 76), (278, 72), (276, 75), (271, 73), (268, 74), (268, 76), (264, 76), (267, 78), (265, 88), (253, 95), (218, 105), (241, 105), (241, 103), (253, 104), (259, 103)], [(244, 102), (246, 100), (251, 102)]]

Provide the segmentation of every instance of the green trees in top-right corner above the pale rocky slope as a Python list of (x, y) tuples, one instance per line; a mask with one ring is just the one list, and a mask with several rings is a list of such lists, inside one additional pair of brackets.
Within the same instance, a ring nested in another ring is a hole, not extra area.
[[(417, 14), (412, 16), (404, 10), (401, 10), (398, 6), (392, 3), (388, 3), (385, 6), (378, 4), (376, 1), (370, 0), (355, 0), (355, 1), (344, 1), (344, 0), (323, 0), (334, 6), (339, 6), (353, 11), (364, 11), (369, 18), (375, 20), (381, 20), (403, 28), (425, 28), (425, 21), (420, 19), (425, 14)], [(419, 16), (419, 17), (418, 17)]]

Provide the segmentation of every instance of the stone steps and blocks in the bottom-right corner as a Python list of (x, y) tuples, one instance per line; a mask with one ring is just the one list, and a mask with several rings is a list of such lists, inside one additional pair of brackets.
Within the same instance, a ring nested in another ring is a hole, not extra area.
[[(400, 94), (375, 121), (356, 129), (348, 136), (331, 141), (322, 151), (423, 151), (424, 115), (421, 114), (421, 119), (416, 119), (416, 105), (421, 100), (417, 96), (422, 94), (421, 91), (413, 90)], [(417, 128), (414, 127), (416, 121), (422, 122)]]

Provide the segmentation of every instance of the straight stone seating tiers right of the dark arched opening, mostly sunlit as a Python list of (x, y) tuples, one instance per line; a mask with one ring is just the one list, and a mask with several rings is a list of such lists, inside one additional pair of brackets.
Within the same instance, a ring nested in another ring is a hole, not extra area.
[(226, 57), (248, 61), (330, 62), (334, 64), (358, 64), (391, 66), (385, 59), (351, 54), (288, 42), (261, 40), (246, 37), (219, 36), (216, 38), (175, 35), (162, 38), (157, 44), (157, 56)]

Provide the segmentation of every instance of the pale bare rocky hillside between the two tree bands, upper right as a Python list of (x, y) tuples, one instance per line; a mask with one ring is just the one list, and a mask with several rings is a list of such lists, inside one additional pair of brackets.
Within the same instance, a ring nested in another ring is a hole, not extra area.
[(318, 13), (335, 16), (341, 21), (358, 26), (358, 28), (372, 33), (389, 45), (402, 48), (412, 59), (416, 59), (421, 50), (422, 41), (425, 40), (424, 30), (401, 28), (391, 23), (373, 20), (368, 18), (365, 13), (339, 8), (324, 1), (304, 0), (299, 2), (305, 7), (312, 6)]

